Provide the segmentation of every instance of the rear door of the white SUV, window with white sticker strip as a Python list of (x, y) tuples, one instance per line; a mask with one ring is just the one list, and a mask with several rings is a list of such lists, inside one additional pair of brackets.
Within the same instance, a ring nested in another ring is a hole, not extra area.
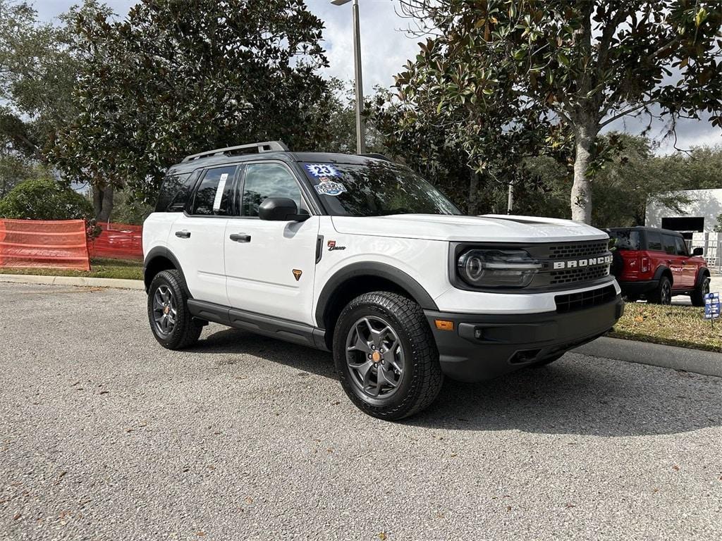
[(210, 167), (183, 214), (171, 228), (168, 247), (178, 258), (194, 299), (228, 305), (224, 235), (232, 214), (232, 190), (238, 166)]

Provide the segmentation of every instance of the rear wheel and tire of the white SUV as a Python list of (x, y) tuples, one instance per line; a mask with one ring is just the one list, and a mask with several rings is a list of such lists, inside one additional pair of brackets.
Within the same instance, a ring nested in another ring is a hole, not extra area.
[(148, 322), (155, 339), (166, 349), (187, 348), (201, 337), (203, 325), (193, 320), (187, 301), (188, 290), (179, 271), (155, 275), (148, 289)]

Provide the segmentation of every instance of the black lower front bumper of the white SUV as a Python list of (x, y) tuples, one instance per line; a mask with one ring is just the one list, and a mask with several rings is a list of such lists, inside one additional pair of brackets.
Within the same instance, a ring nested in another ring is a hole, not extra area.
[[(565, 313), (482, 315), (425, 310), (441, 369), (463, 382), (492, 379), (565, 353), (599, 338), (623, 313), (619, 294), (611, 302)], [(435, 320), (453, 321), (453, 330), (438, 330)]]

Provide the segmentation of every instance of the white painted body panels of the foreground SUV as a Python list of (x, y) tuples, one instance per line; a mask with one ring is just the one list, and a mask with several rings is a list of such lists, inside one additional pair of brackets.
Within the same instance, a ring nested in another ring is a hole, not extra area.
[[(175, 232), (191, 232), (188, 239)], [(234, 242), (230, 234), (251, 236)], [(321, 260), (316, 242), (323, 236)], [(414, 278), (443, 312), (531, 314), (554, 312), (549, 293), (495, 294), (456, 289), (449, 276), (450, 242), (529, 245), (606, 239), (585, 224), (527, 216), (400, 215), (357, 218), (312, 216), (303, 222), (199, 218), (152, 214), (145, 222), (145, 255), (166, 247), (181, 263), (195, 299), (321, 326), (315, 313), (323, 286), (354, 263), (385, 263)], [(329, 241), (336, 248), (329, 250)], [(294, 271), (301, 271), (296, 280)], [(619, 294), (619, 286), (614, 282)], [(564, 293), (599, 286), (571, 287)]]

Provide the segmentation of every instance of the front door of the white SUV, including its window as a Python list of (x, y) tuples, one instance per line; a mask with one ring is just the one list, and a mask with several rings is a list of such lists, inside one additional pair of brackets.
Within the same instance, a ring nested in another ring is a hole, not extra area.
[(290, 198), (308, 211), (287, 164), (248, 164), (242, 177), (240, 219), (228, 221), (224, 239), (230, 306), (313, 325), (318, 216), (306, 221), (258, 218), (258, 206), (268, 197)]

